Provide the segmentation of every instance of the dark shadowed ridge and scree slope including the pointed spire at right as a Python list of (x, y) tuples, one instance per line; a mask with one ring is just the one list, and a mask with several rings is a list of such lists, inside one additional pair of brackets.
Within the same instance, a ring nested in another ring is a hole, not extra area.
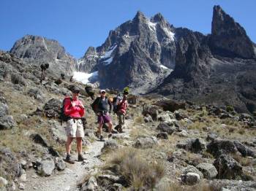
[(255, 45), (221, 7), (214, 7), (212, 34), (177, 28), (176, 44), (176, 67), (155, 92), (255, 111)]

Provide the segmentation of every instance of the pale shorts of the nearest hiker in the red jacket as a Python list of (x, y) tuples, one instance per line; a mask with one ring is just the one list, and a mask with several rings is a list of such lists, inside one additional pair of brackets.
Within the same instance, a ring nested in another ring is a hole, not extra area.
[(84, 137), (82, 120), (70, 119), (65, 128), (68, 137)]

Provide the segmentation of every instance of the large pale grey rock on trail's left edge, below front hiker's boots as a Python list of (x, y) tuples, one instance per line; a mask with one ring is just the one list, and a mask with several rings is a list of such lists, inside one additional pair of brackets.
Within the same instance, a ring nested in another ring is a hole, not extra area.
[(37, 166), (37, 173), (40, 176), (50, 176), (53, 174), (55, 163), (51, 158), (41, 160)]

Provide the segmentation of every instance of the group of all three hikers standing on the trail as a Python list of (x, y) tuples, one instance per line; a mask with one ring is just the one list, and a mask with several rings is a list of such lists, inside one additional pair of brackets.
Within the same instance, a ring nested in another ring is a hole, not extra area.
[[(65, 161), (67, 163), (75, 163), (70, 156), (71, 143), (73, 139), (77, 141), (78, 161), (83, 161), (85, 158), (82, 154), (82, 138), (84, 137), (83, 122), (81, 118), (85, 114), (85, 108), (83, 102), (79, 100), (78, 95), (80, 89), (78, 87), (72, 88), (72, 97), (64, 98), (63, 112), (67, 117), (67, 126), (65, 127), (67, 133), (66, 152), (67, 156)], [(108, 124), (108, 138), (112, 136), (112, 133), (123, 133), (123, 125), (125, 115), (127, 113), (127, 95), (129, 94), (129, 88), (124, 88), (124, 91), (116, 98), (108, 98), (106, 96), (106, 90), (99, 90), (99, 96), (91, 104), (91, 108), (97, 114), (98, 129), (96, 135), (100, 141), (104, 141), (102, 136), (102, 127), (104, 124)], [(118, 116), (118, 125), (116, 130), (113, 130), (113, 122), (110, 117), (110, 113), (115, 112)]]

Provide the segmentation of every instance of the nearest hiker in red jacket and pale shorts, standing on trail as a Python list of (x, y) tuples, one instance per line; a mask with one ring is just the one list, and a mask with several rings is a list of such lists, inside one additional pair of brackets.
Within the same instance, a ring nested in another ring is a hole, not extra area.
[(67, 120), (67, 127), (65, 128), (67, 133), (66, 161), (68, 163), (75, 163), (70, 157), (71, 143), (74, 138), (76, 138), (77, 141), (78, 161), (85, 159), (82, 155), (82, 138), (84, 137), (84, 132), (83, 122), (81, 120), (85, 112), (82, 101), (78, 99), (79, 92), (79, 88), (74, 87), (72, 89), (72, 98), (67, 99), (64, 103), (64, 114), (70, 117), (70, 119)]

